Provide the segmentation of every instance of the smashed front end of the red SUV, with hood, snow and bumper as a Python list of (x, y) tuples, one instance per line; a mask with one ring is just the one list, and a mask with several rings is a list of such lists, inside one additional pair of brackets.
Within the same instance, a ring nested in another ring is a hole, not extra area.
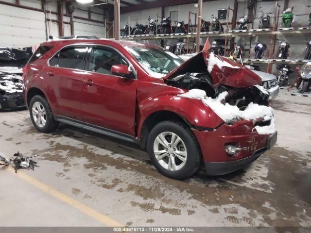
[(207, 174), (223, 175), (256, 160), (276, 142), (269, 92), (251, 70), (224, 57), (201, 52), (165, 77), (184, 90), (179, 97), (202, 101), (206, 114), (223, 123), (214, 129), (196, 128)]

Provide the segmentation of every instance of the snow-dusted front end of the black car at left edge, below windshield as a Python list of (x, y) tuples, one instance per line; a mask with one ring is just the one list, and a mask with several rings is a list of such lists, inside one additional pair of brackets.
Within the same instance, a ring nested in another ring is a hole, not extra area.
[(24, 107), (22, 77), (0, 72), (0, 109), (20, 109)]

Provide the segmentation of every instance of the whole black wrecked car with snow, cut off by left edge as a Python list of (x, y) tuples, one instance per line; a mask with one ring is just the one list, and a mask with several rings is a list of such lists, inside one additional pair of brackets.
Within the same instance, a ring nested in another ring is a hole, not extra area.
[(22, 67), (32, 55), (32, 47), (0, 47), (0, 109), (25, 108)]

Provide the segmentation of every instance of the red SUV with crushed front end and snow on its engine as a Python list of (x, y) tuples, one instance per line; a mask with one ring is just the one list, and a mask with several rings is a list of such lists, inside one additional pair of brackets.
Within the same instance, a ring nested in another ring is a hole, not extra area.
[(201, 164), (223, 175), (276, 142), (269, 91), (254, 72), (200, 52), (114, 40), (45, 42), (24, 69), (24, 98), (42, 133), (58, 122), (139, 143), (159, 172), (185, 179)]

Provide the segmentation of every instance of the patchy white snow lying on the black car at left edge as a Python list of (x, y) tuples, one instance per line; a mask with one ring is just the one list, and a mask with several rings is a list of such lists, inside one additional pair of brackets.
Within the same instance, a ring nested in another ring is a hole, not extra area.
[(6, 93), (23, 92), (23, 81), (18, 75), (0, 73), (0, 90)]

